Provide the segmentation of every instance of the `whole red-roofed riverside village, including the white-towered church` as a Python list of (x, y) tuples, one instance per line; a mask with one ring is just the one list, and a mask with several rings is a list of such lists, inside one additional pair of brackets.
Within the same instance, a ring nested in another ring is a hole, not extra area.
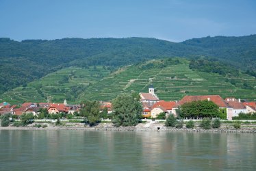
[[(212, 101), (215, 103), (222, 114), (225, 114), (225, 119), (232, 120), (234, 116), (238, 114), (253, 114), (256, 112), (256, 102), (242, 102), (236, 98), (223, 99), (219, 95), (203, 95), (203, 96), (184, 96), (180, 101), (162, 101), (155, 94), (153, 86), (149, 87), (149, 92), (140, 92), (140, 102), (143, 106), (142, 117), (143, 118), (157, 118), (159, 114), (165, 114), (166, 116), (173, 114), (177, 116), (177, 109), (179, 106), (185, 103), (191, 103), (192, 101)], [(100, 101), (100, 109), (107, 110), (107, 114), (112, 114), (112, 103)], [(40, 109), (47, 109), (48, 114), (79, 114), (81, 105), (68, 105), (67, 101), (64, 103), (33, 103), (26, 102), (21, 106), (10, 105), (8, 102), (0, 103), (0, 115), (12, 114), (21, 116), (22, 114), (32, 113), (34, 116), (38, 116)]]

